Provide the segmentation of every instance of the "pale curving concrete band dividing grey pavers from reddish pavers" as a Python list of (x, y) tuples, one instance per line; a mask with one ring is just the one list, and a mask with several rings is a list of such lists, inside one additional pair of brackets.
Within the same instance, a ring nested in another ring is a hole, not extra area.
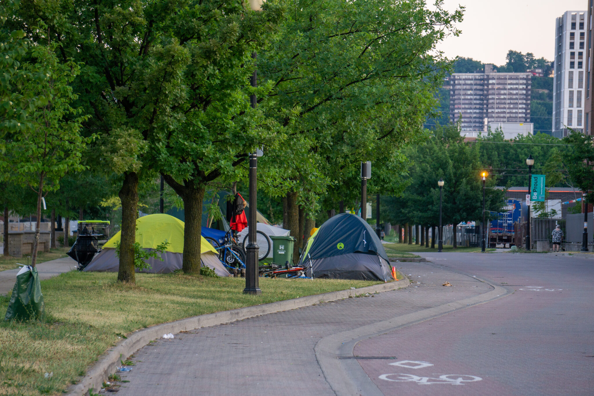
[[(470, 276), (470, 275), (469, 275)], [(498, 286), (492, 281), (473, 277), (488, 283), (494, 290), (479, 294), (475, 297), (446, 303), (423, 311), (407, 313), (396, 316), (386, 321), (365, 325), (353, 330), (328, 335), (315, 344), (314, 351), (318, 364), (326, 377), (326, 381), (337, 396), (365, 395), (383, 396), (377, 385), (368, 377), (356, 359), (339, 359), (339, 357), (354, 357), (355, 345), (365, 339), (376, 335), (386, 334), (412, 324), (437, 318), (459, 309), (469, 308), (473, 305), (486, 303), (514, 292), (514, 289)]]

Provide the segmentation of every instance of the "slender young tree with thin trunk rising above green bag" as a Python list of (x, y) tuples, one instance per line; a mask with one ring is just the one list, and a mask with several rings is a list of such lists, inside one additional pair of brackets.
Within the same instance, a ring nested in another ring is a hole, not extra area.
[(82, 170), (81, 152), (88, 139), (80, 136), (81, 109), (71, 103), (77, 99), (69, 85), (80, 72), (80, 66), (68, 61), (58, 62), (55, 45), (33, 47), (31, 59), (22, 65), (27, 83), (22, 90), (39, 97), (43, 106), (27, 115), (27, 128), (11, 133), (7, 140), (7, 155), (0, 160), (0, 169), (11, 173), (11, 182), (29, 186), (37, 194), (37, 224), (31, 254), (31, 265), (37, 262), (42, 197), (59, 188), (68, 170)]

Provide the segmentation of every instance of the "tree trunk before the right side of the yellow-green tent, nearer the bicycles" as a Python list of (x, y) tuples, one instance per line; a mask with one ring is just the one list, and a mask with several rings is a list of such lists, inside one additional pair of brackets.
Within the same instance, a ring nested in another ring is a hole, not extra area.
[(200, 275), (200, 241), (202, 236), (202, 203), (206, 188), (188, 186), (184, 195), (184, 274)]

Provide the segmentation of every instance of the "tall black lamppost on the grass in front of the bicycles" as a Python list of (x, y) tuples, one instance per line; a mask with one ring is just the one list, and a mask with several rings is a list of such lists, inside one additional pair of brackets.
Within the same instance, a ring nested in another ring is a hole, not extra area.
[[(256, 53), (252, 53), (252, 59), (256, 59)], [(252, 87), (258, 85), (258, 72), (254, 70), (251, 81)], [(252, 109), (256, 108), (256, 96), (255, 94), (249, 97)], [(249, 154), (249, 224), (248, 224), (248, 246), (245, 247), (245, 294), (262, 294), (262, 290), (258, 285), (258, 243), (256, 240), (257, 229), (256, 229), (256, 217), (258, 192), (257, 192), (257, 176), (258, 170), (258, 156), (257, 153)]]

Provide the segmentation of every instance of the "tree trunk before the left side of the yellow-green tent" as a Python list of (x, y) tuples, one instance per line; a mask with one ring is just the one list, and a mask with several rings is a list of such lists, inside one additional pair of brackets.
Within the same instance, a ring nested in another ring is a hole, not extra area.
[(138, 173), (126, 173), (118, 195), (122, 201), (118, 281), (135, 284), (134, 243), (136, 242), (136, 219), (138, 217)]

